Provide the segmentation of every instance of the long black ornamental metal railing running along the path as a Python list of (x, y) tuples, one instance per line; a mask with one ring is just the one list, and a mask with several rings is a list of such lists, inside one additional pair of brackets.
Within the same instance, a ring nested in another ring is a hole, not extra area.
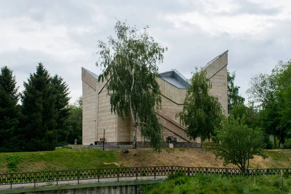
[(196, 174), (220, 174), (226, 177), (233, 176), (261, 176), (261, 175), (291, 175), (291, 168), (285, 169), (248, 169), (242, 171), (235, 168), (206, 168), (206, 167), (182, 167), (182, 166), (151, 166), (151, 167), (118, 167), (98, 168), (86, 170), (62, 170), (30, 173), (8, 173), (0, 174), (0, 185), (25, 184), (40, 182), (71, 181), (102, 178), (129, 178), (129, 177), (154, 177), (168, 176), (171, 174), (183, 173), (187, 176)]

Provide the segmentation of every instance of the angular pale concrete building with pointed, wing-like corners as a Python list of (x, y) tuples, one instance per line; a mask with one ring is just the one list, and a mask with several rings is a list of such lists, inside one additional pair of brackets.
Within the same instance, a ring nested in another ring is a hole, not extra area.
[[(227, 115), (227, 52), (215, 57), (205, 67), (212, 83), (210, 94), (218, 97)], [(200, 139), (190, 140), (180, 127), (176, 113), (183, 109), (188, 83), (176, 69), (163, 72), (157, 78), (162, 95), (162, 110), (157, 113), (163, 126), (164, 140), (171, 141), (174, 147), (199, 146)], [(110, 97), (107, 96), (106, 82), (98, 82), (98, 76), (82, 67), (83, 126), (82, 144), (90, 145), (103, 138), (105, 145), (132, 144), (132, 119), (122, 120), (111, 113)], [(143, 145), (140, 131), (137, 131), (137, 144)], [(165, 146), (168, 144), (165, 143)]]

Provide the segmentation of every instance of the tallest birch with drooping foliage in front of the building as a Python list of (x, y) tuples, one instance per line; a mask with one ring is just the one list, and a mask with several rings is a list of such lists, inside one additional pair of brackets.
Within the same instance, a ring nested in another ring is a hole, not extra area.
[(156, 151), (162, 147), (162, 126), (155, 113), (161, 108), (157, 63), (162, 63), (163, 48), (146, 31), (130, 28), (117, 21), (114, 30), (117, 39), (109, 36), (108, 44), (98, 41), (100, 49), (97, 66), (103, 68), (98, 81), (107, 81), (111, 111), (118, 116), (131, 117), (134, 124), (133, 148), (136, 131), (150, 141)]

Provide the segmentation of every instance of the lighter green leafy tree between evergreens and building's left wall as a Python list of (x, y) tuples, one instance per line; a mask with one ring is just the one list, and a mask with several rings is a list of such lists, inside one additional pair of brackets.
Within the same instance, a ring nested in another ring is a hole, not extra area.
[(67, 142), (74, 144), (77, 139), (78, 144), (82, 143), (82, 97), (78, 97), (74, 104), (70, 105), (69, 117), (66, 125), (69, 129)]

